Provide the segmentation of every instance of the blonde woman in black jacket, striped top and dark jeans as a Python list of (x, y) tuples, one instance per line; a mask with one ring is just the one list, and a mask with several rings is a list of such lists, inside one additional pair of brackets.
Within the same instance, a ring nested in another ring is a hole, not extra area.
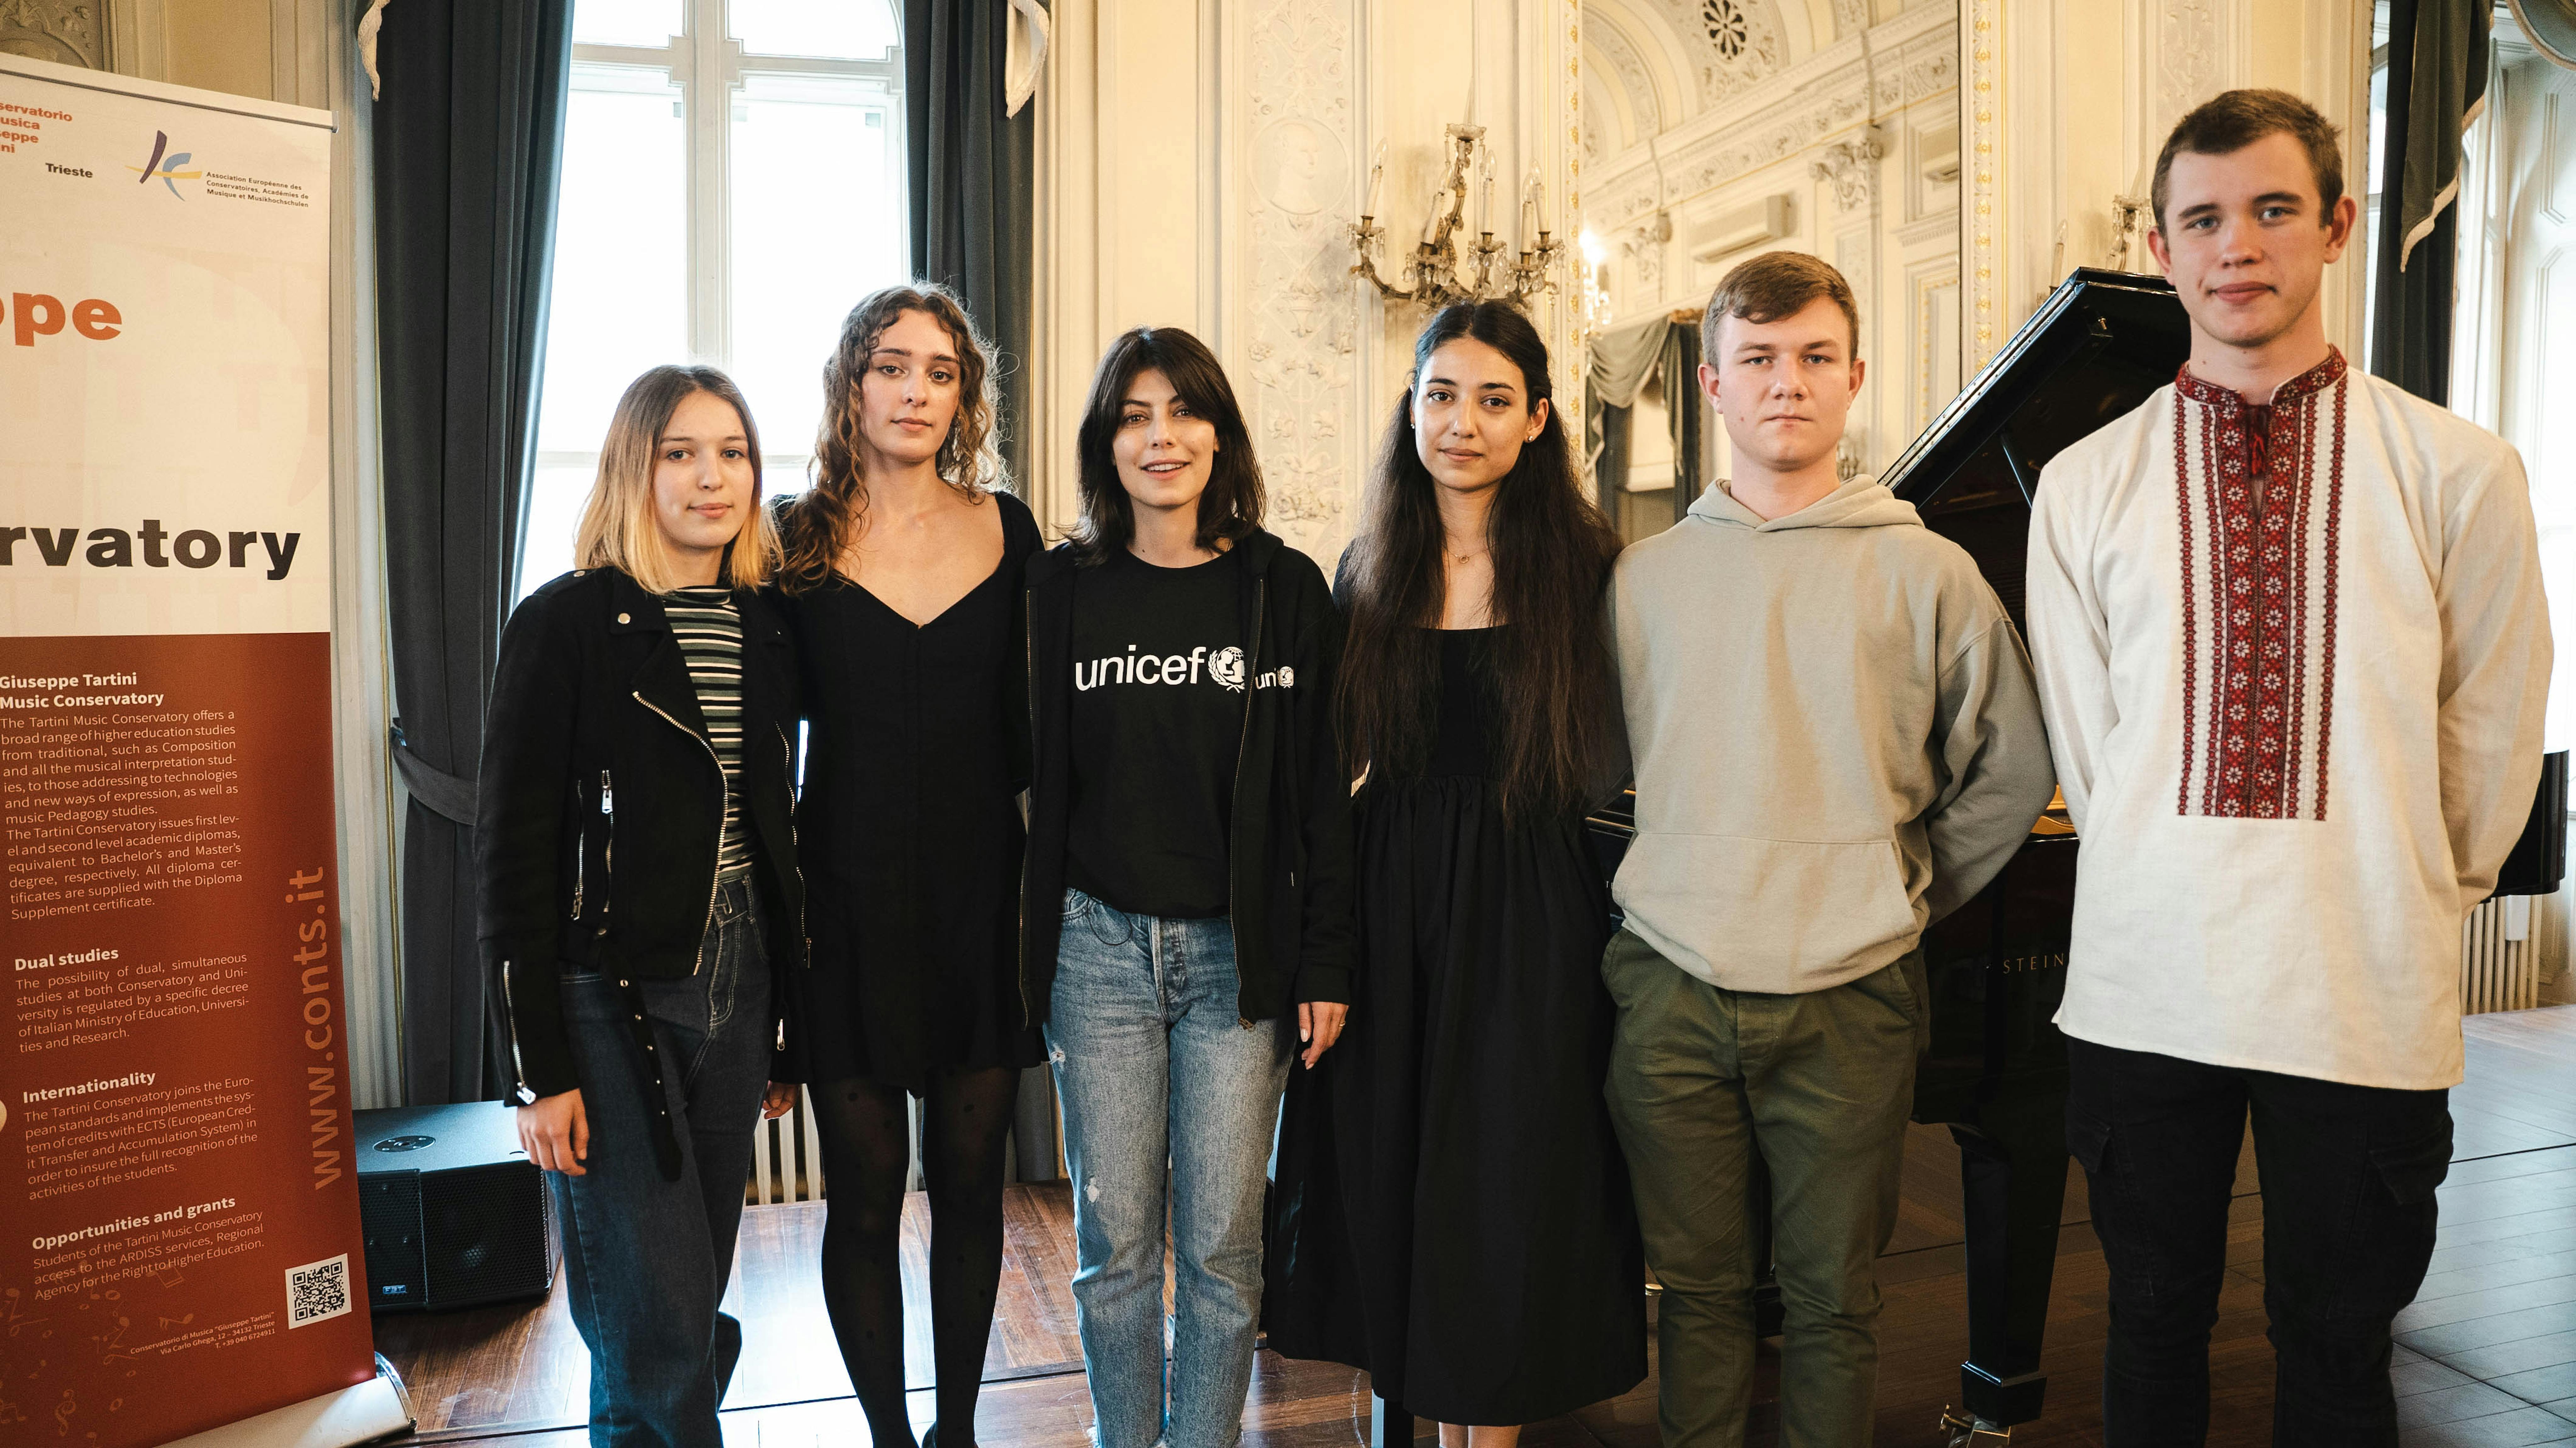
[(716, 368), (608, 423), (574, 544), (500, 636), (474, 801), (518, 1139), (554, 1185), (592, 1448), (721, 1448), (752, 1123), (804, 969), (793, 642), (760, 433)]

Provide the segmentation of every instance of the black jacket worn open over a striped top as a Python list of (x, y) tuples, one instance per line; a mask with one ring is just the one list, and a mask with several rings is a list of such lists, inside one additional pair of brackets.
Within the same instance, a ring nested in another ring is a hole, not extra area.
[[(752, 876), (770, 966), (804, 969), (796, 654), (773, 598), (734, 590), (734, 605)], [(721, 830), (724, 773), (662, 600), (618, 569), (531, 593), (500, 636), (474, 809), (477, 935), (520, 1100), (582, 1085), (559, 1000), (567, 969), (623, 979), (698, 969)], [(786, 1028), (781, 1018), (781, 1038)]]

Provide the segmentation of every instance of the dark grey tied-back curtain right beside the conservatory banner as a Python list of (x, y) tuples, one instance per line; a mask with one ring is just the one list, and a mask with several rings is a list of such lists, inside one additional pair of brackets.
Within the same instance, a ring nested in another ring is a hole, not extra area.
[(572, 0), (399, 0), (376, 64), (402, 1090), (507, 1082), (474, 940), (474, 773), (536, 451)]

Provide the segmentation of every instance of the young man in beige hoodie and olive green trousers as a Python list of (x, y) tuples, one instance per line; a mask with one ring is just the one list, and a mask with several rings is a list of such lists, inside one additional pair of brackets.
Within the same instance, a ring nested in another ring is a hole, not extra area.
[(1664, 1448), (1739, 1445), (1749, 1180), (1770, 1170), (1780, 1443), (1870, 1443), (1875, 1257), (1927, 1028), (1924, 925), (2012, 858), (2053, 776), (2030, 657), (1968, 554), (1834, 469), (1860, 309), (1832, 265), (1718, 283), (1700, 389), (1734, 477), (1610, 582), (1636, 843), (1602, 956)]

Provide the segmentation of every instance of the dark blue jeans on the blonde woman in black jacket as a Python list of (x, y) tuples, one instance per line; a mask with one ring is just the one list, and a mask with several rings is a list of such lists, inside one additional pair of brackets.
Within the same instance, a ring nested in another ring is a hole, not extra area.
[[(572, 1324), (590, 1348), (592, 1448), (721, 1448), (716, 1404), (742, 1324), (716, 1311), (770, 1074), (770, 964), (750, 876), (716, 891), (698, 971), (670, 982), (564, 976), (564, 1028), (590, 1118), (585, 1175), (554, 1175)], [(654, 1162), (641, 997), (662, 1062), (680, 1180)]]

